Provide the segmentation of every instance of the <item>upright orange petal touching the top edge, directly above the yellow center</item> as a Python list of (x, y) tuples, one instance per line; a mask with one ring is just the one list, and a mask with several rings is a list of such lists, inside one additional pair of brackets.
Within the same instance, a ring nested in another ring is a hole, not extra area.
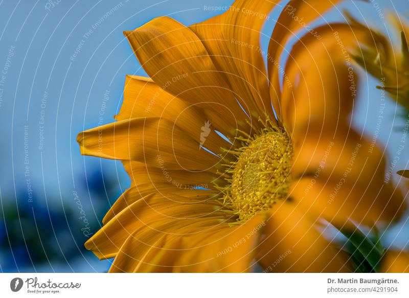
[(255, 125), (266, 113), (275, 122), (260, 48), (262, 26), (275, 5), (274, 1), (236, 1), (225, 13), (189, 27)]

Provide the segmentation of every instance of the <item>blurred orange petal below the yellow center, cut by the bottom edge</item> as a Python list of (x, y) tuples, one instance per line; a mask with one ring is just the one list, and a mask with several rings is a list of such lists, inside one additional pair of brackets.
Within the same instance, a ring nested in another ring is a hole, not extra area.
[(344, 272), (347, 259), (316, 229), (305, 209), (285, 201), (274, 206), (259, 244), (265, 272)]

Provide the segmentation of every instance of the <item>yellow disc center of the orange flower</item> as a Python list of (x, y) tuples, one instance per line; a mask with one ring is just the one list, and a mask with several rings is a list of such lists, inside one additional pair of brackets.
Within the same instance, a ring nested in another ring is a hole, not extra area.
[(292, 145), (285, 132), (271, 128), (252, 137), (238, 151), (237, 161), (226, 171), (232, 179), (224, 189), (223, 202), (242, 221), (287, 197)]

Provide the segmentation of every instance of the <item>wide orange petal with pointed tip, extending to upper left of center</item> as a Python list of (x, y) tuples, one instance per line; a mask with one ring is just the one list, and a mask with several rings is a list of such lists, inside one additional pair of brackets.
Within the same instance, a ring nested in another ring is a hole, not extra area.
[(237, 127), (249, 131), (242, 120), (245, 113), (189, 28), (160, 17), (124, 33), (147, 74), (163, 89), (203, 107), (208, 119), (225, 135), (235, 136)]

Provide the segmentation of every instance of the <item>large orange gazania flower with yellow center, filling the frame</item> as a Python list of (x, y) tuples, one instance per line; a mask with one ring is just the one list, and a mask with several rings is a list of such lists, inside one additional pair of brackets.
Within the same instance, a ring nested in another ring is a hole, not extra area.
[[(132, 179), (85, 244), (115, 258), (110, 272), (349, 271), (328, 223), (400, 215), (383, 151), (350, 128), (346, 49), (367, 35), (308, 25), (333, 3), (290, 1), (268, 71), (259, 40), (270, 1), (125, 32), (150, 78), (127, 76), (117, 122), (78, 135), (82, 154), (120, 159)], [(284, 67), (294, 32), (304, 36)]]

